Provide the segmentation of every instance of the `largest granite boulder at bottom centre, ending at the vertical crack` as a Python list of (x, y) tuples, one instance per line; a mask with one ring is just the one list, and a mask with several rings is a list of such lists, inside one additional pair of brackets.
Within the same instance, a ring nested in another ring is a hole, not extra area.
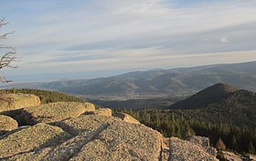
[(88, 115), (59, 123), (72, 135), (90, 136), (72, 160), (158, 160), (161, 134), (112, 116)]

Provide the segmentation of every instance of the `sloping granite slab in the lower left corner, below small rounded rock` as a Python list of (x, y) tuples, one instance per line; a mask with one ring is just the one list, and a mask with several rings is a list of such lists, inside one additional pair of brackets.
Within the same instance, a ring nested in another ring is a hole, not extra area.
[(30, 126), (0, 140), (0, 160), (42, 147), (57, 146), (69, 138), (70, 135), (58, 126), (44, 123)]

